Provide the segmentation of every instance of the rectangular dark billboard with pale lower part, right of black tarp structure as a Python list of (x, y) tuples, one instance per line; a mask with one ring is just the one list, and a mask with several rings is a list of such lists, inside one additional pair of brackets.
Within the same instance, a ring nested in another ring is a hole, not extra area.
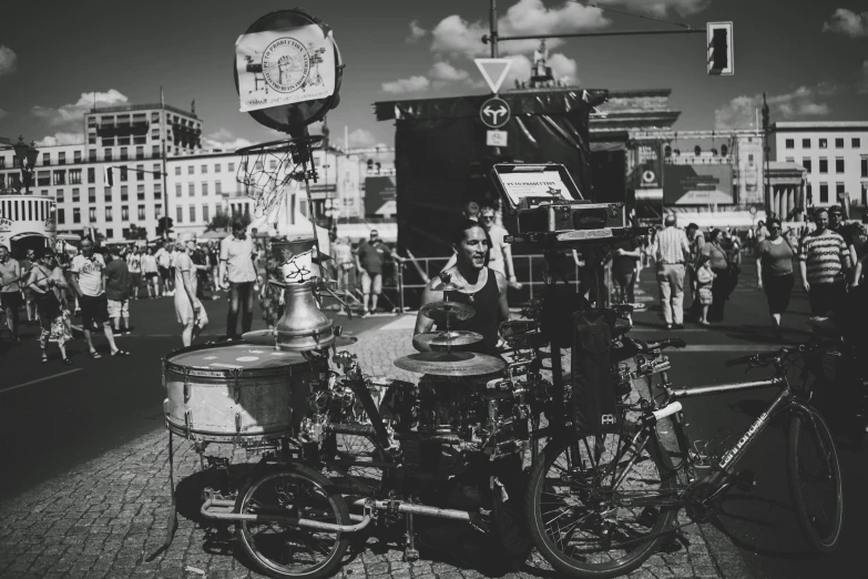
[(666, 205), (732, 205), (735, 203), (733, 165), (665, 165), (663, 203)]

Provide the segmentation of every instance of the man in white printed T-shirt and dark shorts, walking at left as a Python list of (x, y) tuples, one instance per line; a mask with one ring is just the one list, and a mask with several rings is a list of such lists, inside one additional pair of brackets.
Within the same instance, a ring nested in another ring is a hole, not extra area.
[(92, 358), (101, 358), (93, 347), (91, 327), (93, 323), (102, 324), (105, 339), (111, 346), (112, 356), (129, 356), (129, 352), (120, 349), (114, 343), (112, 326), (109, 324), (109, 298), (105, 295), (105, 260), (93, 252), (93, 242), (84, 238), (81, 242), (81, 253), (72, 260), (70, 266), (72, 278), (70, 285), (79, 296), (81, 306), (81, 326), (88, 349)]

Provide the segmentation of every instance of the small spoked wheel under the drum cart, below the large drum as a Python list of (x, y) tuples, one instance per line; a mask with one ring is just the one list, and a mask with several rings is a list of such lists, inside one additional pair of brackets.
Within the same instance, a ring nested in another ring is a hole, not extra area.
[[(344, 498), (321, 474), (300, 465), (266, 471), (238, 492), (236, 512), (286, 515), (349, 525)], [(241, 521), (235, 534), (251, 560), (269, 577), (317, 579), (340, 567), (345, 535), (280, 522)]]

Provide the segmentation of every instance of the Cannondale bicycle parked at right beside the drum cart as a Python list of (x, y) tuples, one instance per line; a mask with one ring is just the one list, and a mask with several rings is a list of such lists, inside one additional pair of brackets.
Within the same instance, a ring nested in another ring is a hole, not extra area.
[[(774, 366), (768, 379), (687, 389), (673, 389), (662, 356), (666, 347), (684, 347), (682, 339), (656, 343), (631, 341), (635, 380), (646, 379), (647, 397), (625, 400), (616, 434), (573, 431), (552, 440), (533, 466), (528, 487), (528, 521), (534, 544), (560, 572), (582, 579), (619, 577), (639, 568), (658, 550), (681, 508), (693, 522), (714, 518), (719, 500), (733, 486), (753, 486), (752, 474), (736, 467), (770, 420), (789, 415), (787, 468), (799, 527), (808, 544), (831, 552), (840, 539), (844, 496), (837, 449), (826, 420), (810, 405), (810, 392), (790, 386), (787, 372), (816, 345), (782, 348), (727, 360), (727, 366)], [(808, 372), (808, 366), (804, 366)], [(650, 389), (660, 375), (664, 399)], [(806, 388), (809, 380), (804, 380)], [(717, 457), (691, 446), (678, 400), (716, 393), (777, 387), (779, 392), (757, 420)], [(631, 419), (627, 419), (630, 415)], [(670, 418), (676, 446), (670, 449), (656, 425)], [(707, 474), (702, 470), (708, 469)], [(825, 489), (809, 488), (817, 482)]]

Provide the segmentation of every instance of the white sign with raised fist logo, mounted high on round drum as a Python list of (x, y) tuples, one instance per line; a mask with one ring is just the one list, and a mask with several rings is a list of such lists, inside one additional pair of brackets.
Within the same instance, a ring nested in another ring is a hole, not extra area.
[(318, 26), (242, 34), (235, 42), (242, 112), (335, 92), (335, 45)]

